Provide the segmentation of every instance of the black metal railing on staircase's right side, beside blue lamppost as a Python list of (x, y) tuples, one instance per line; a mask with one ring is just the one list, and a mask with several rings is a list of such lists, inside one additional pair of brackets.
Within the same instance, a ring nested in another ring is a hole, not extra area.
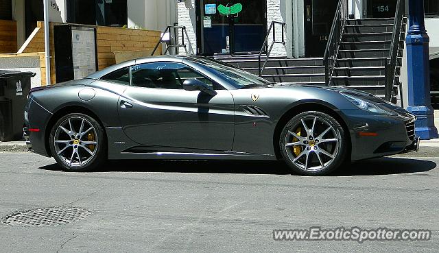
[[(393, 34), (392, 34), (392, 43), (390, 43), (390, 52), (389, 57), (385, 62), (385, 100), (392, 101), (393, 93), (394, 93), (394, 82), (396, 76), (396, 67), (398, 67), (398, 54), (399, 54), (399, 45), (401, 40), (401, 31), (403, 28), (403, 17), (405, 12), (405, 1), (398, 0), (396, 3), (396, 13), (393, 25)], [(400, 85), (400, 84), (396, 84)], [(399, 89), (401, 98), (402, 89)], [(401, 106), (402, 100), (401, 100)]]

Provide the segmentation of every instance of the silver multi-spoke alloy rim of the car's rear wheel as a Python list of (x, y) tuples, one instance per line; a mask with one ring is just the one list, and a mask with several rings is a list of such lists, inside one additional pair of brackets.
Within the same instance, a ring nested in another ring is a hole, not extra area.
[[(78, 131), (77, 131), (78, 130)], [(55, 132), (56, 155), (70, 167), (80, 167), (93, 160), (97, 152), (97, 132), (90, 121), (70, 117)]]

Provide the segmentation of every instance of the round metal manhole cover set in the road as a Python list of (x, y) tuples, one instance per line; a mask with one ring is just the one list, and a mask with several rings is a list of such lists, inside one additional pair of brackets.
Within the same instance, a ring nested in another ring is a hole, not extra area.
[(58, 206), (22, 210), (0, 218), (0, 222), (11, 226), (48, 227), (79, 221), (91, 215), (90, 210), (72, 206)]

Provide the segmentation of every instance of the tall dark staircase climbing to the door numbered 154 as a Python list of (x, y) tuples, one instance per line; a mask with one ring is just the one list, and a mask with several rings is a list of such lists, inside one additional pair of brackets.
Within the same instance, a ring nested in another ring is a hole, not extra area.
[[(340, 0), (339, 4), (345, 2)], [(331, 31), (330, 43), (339, 43), (333, 50), (329, 43), (324, 56), (327, 83), (366, 91), (402, 106), (399, 77), (406, 23), (403, 14), (404, 1), (399, 0), (395, 18), (350, 20), (335, 16), (340, 25), (333, 27), (341, 32)], [(347, 16), (347, 10), (340, 8), (337, 15)]]

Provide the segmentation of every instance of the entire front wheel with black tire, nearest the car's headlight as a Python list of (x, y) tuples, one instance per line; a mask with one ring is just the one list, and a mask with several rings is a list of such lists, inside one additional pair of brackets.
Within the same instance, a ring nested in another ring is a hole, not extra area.
[(281, 154), (296, 173), (322, 176), (337, 169), (346, 154), (346, 138), (340, 123), (322, 112), (302, 112), (283, 128)]

